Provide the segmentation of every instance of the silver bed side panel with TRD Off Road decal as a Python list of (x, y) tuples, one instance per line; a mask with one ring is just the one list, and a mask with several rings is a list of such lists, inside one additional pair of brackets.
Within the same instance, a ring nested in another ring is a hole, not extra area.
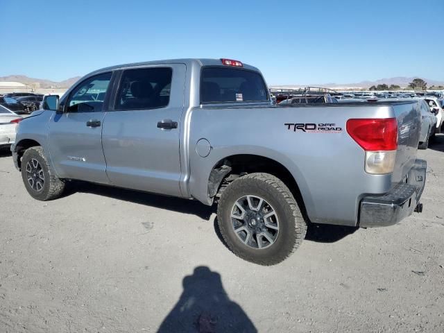
[[(393, 181), (391, 174), (364, 171), (364, 150), (348, 135), (345, 124), (350, 118), (395, 117), (394, 108), (194, 108), (189, 143), (191, 194), (210, 204), (207, 181), (214, 165), (231, 155), (259, 155), (291, 172), (312, 222), (356, 225), (362, 196), (384, 194)], [(296, 124), (330, 124), (329, 128), (338, 130), (295, 129)], [(201, 138), (212, 146), (207, 157), (196, 153), (196, 142)], [(407, 169), (408, 163), (404, 164)]]

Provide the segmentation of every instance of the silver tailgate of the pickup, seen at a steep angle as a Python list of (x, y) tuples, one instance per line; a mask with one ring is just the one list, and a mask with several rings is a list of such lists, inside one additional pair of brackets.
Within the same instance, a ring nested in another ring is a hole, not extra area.
[(398, 150), (392, 183), (398, 183), (404, 180), (415, 163), (421, 130), (421, 114), (416, 101), (396, 103), (391, 107), (398, 121)]

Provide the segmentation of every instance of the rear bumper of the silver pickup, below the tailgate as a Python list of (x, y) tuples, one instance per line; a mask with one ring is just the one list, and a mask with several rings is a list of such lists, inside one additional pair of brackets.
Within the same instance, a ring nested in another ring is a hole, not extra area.
[(382, 196), (365, 196), (359, 207), (359, 226), (384, 227), (411, 215), (425, 187), (426, 169), (425, 160), (416, 160), (407, 175), (407, 182), (400, 182)]

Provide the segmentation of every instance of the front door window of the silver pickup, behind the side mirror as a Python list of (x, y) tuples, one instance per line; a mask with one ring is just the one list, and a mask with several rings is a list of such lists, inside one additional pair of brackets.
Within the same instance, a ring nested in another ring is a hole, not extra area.
[(75, 87), (67, 101), (67, 112), (101, 112), (111, 76), (99, 74)]

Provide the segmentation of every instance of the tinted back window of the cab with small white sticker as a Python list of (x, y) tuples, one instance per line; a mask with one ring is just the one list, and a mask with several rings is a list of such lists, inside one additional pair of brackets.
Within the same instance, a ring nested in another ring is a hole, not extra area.
[(257, 71), (230, 67), (203, 67), (200, 103), (268, 101), (267, 87)]

